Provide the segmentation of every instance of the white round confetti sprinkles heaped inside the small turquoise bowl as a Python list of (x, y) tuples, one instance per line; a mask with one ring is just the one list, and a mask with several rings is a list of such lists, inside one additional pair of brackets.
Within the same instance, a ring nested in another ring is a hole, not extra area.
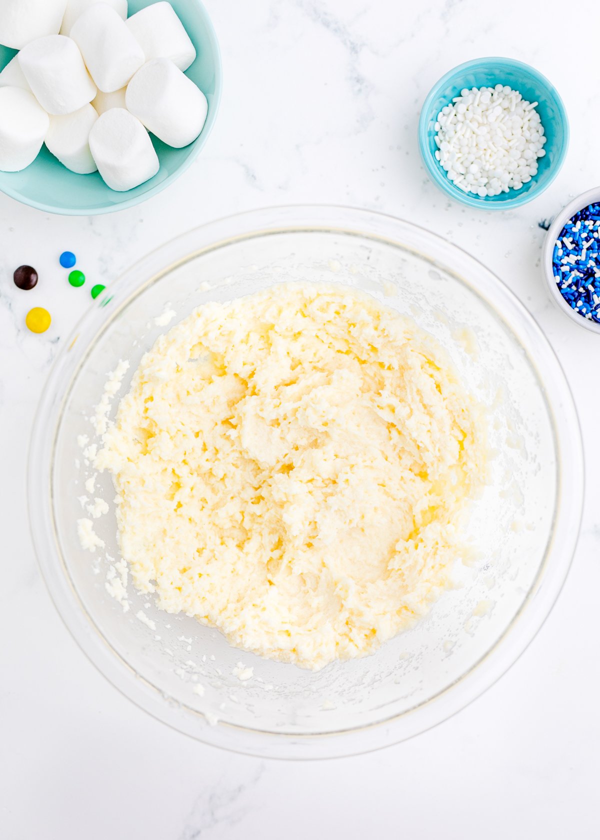
[(463, 88), (434, 124), (435, 159), (450, 181), (481, 198), (531, 181), (545, 155), (537, 104), (508, 85)]

